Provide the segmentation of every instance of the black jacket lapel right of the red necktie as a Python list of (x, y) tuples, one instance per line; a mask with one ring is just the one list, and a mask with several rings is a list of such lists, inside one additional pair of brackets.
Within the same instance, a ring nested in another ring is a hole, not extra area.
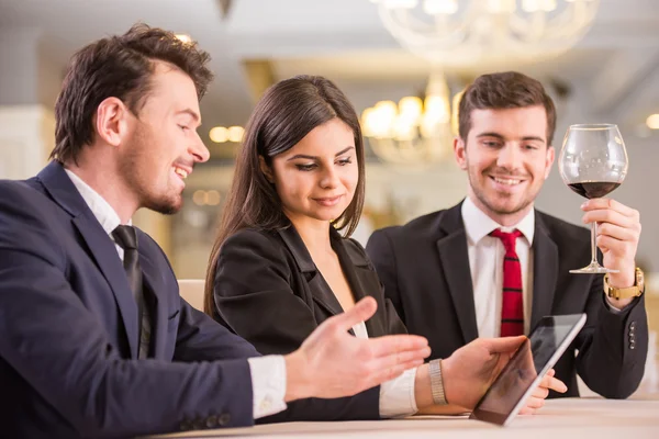
[(543, 316), (551, 314), (558, 274), (558, 247), (537, 211), (533, 238), (533, 274), (532, 330)]

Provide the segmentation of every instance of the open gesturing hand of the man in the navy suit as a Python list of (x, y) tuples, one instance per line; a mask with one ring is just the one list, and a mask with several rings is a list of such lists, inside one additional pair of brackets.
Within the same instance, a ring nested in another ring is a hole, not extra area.
[(323, 322), (300, 349), (284, 357), (287, 402), (350, 396), (423, 364), (431, 354), (424, 337), (359, 339), (348, 334), (353, 326), (370, 318), (377, 306), (375, 299), (362, 299), (344, 314)]

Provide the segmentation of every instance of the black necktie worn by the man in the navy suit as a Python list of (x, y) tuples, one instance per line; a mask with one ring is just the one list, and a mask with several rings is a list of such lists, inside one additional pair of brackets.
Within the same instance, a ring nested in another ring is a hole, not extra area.
[(112, 237), (124, 250), (124, 270), (129, 278), (129, 285), (137, 303), (137, 316), (139, 318), (139, 351), (138, 358), (148, 357), (150, 341), (150, 319), (144, 306), (144, 292), (142, 289), (142, 268), (139, 267), (139, 254), (137, 251), (137, 233), (133, 226), (118, 226), (112, 232)]

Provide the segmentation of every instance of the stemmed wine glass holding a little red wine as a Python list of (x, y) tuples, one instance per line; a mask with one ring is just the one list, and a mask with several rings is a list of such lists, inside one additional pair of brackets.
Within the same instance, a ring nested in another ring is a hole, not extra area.
[[(627, 151), (614, 124), (570, 125), (563, 138), (558, 170), (563, 182), (587, 199), (597, 199), (616, 189), (627, 175)], [(591, 262), (571, 273), (615, 273), (596, 259), (597, 224), (591, 224)]]

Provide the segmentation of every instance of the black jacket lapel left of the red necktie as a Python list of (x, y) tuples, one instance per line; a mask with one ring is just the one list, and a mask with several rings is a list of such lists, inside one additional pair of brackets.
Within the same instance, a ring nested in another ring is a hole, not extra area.
[[(442, 237), (437, 240), (437, 250), (462, 337), (468, 344), (478, 337), (478, 326), (461, 209), (462, 203), (445, 211), (439, 217)], [(437, 290), (440, 285), (438, 280), (432, 285), (432, 290)]]

